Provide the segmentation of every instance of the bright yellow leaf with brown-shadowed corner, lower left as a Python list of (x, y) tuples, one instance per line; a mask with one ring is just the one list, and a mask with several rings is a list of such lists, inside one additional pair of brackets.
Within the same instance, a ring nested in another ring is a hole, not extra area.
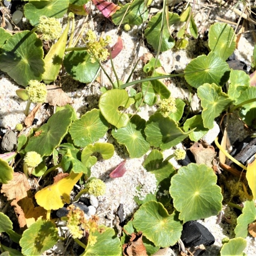
[(82, 174), (82, 172), (71, 172), (67, 177), (41, 189), (35, 195), (37, 204), (44, 207), (47, 211), (58, 210), (63, 207), (65, 203), (69, 204), (69, 194)]

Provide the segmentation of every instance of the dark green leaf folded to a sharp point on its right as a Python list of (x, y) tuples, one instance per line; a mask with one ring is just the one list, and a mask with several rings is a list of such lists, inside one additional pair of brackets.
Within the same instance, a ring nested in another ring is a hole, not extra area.
[(164, 117), (160, 113), (150, 116), (145, 128), (147, 141), (150, 145), (161, 149), (168, 149), (177, 145), (187, 138), (190, 132), (183, 132), (174, 120), (168, 116)]

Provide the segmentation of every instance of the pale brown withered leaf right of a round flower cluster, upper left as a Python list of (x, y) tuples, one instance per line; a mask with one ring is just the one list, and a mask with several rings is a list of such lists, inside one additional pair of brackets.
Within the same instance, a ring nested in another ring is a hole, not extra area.
[(71, 102), (68, 95), (62, 91), (60, 86), (57, 85), (47, 85), (47, 97), (45, 102), (48, 102), (51, 106), (63, 107)]

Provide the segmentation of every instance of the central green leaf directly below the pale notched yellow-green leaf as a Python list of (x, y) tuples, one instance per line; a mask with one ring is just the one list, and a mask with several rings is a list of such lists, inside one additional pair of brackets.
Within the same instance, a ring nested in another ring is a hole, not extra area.
[(138, 158), (148, 152), (149, 143), (144, 133), (146, 121), (138, 115), (132, 116), (123, 128), (112, 130), (118, 143), (124, 144), (131, 158)]

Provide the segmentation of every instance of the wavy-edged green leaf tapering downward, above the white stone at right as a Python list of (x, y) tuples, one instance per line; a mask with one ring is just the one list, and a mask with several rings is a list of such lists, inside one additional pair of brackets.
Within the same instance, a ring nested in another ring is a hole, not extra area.
[(221, 87), (216, 84), (203, 84), (197, 89), (197, 96), (203, 107), (202, 118), (204, 127), (213, 128), (214, 118), (219, 116), (233, 102)]

